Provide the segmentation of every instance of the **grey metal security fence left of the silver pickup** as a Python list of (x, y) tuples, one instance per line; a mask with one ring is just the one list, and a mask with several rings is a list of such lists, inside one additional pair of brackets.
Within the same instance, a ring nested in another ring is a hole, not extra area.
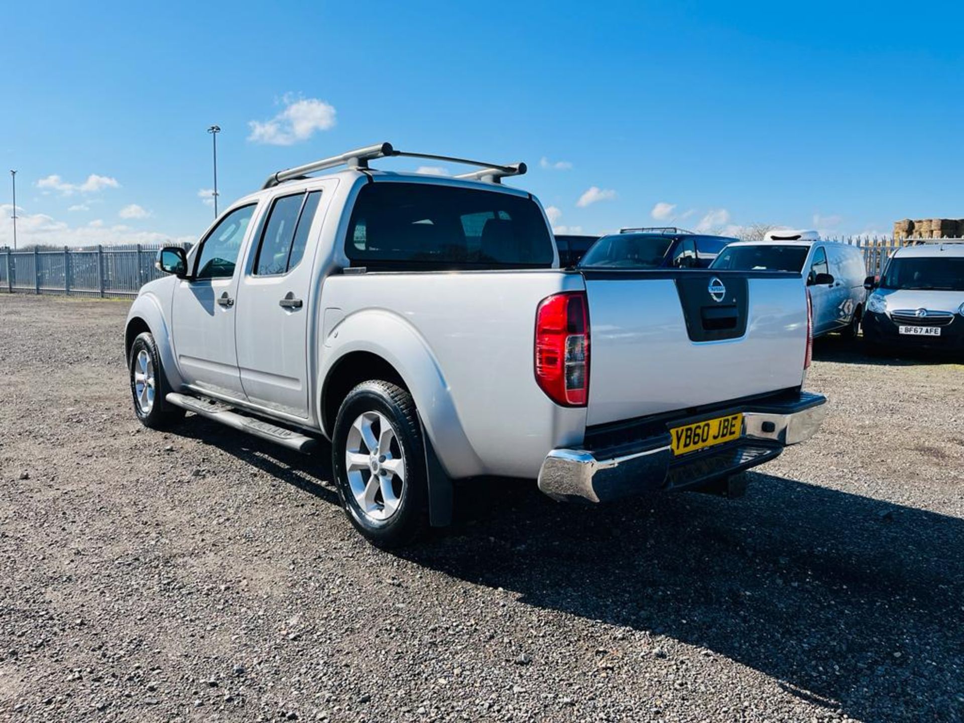
[(0, 248), (0, 291), (136, 296), (147, 281), (163, 276), (154, 268), (154, 257), (161, 248), (161, 244), (34, 247), (25, 251)]

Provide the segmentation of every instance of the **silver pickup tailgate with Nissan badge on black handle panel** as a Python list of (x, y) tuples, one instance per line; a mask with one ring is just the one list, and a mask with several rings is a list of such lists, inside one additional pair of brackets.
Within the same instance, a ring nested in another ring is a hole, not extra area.
[(585, 270), (586, 423), (798, 387), (807, 301), (798, 274)]

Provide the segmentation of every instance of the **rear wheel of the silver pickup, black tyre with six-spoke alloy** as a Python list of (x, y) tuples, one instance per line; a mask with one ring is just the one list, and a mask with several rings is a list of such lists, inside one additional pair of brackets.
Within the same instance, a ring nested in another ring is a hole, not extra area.
[(378, 547), (401, 547), (428, 527), (425, 448), (405, 389), (370, 381), (348, 392), (335, 419), (332, 469), (345, 514)]

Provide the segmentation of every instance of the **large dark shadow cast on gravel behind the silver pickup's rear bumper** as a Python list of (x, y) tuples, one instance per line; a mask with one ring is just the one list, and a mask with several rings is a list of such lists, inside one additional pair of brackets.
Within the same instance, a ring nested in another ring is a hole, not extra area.
[(964, 521), (751, 476), (739, 500), (599, 508), (493, 481), (461, 491), (471, 518), (402, 556), (707, 648), (860, 720), (964, 719)]

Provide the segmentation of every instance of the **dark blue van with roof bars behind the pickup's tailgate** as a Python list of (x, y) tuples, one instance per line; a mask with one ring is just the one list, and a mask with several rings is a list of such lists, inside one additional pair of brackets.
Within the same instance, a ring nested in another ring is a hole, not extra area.
[(736, 240), (675, 227), (623, 228), (593, 244), (579, 268), (705, 269)]

